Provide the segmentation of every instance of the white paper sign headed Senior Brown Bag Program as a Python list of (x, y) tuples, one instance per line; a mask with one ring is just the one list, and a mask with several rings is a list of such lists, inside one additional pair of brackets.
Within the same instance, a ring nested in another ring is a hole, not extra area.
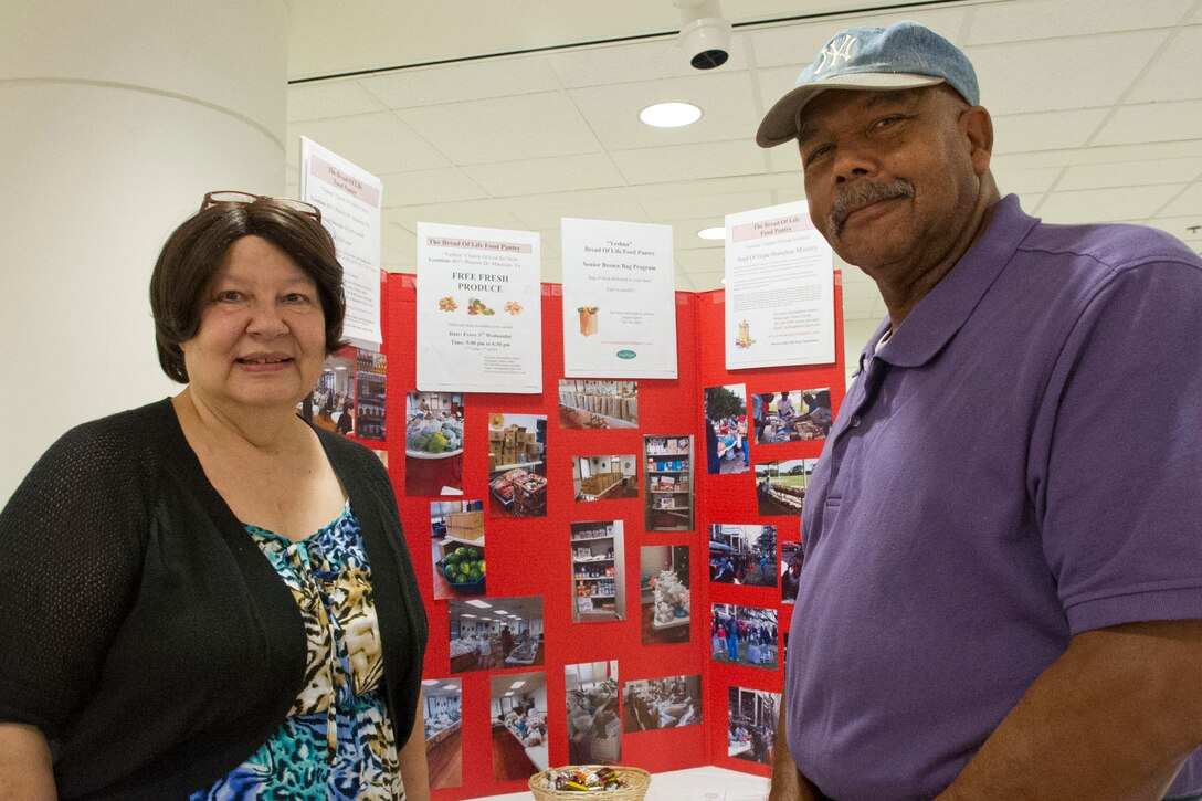
[(672, 227), (561, 225), (564, 375), (677, 378)]

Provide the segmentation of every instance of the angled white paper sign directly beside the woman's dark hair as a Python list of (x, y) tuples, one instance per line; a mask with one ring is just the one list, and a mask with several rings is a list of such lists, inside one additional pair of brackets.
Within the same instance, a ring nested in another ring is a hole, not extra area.
[(337, 153), (300, 137), (300, 200), (321, 209), (343, 265), (352, 345), (380, 350), (380, 208), (383, 183)]

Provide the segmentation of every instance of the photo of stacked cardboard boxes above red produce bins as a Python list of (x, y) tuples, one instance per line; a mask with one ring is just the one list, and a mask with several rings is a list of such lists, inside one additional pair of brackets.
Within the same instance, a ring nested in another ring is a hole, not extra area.
[(488, 511), (547, 516), (547, 416), (488, 415)]

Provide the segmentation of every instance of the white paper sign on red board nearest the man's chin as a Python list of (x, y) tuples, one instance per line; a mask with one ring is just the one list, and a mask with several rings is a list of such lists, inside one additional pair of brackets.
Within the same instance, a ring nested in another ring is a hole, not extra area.
[(726, 369), (834, 362), (834, 259), (805, 203), (726, 216)]

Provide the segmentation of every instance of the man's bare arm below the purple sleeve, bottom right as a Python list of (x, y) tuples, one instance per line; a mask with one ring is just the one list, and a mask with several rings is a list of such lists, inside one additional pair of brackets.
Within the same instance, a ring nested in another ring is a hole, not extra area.
[(1072, 639), (939, 801), (1162, 799), (1202, 744), (1202, 621)]

